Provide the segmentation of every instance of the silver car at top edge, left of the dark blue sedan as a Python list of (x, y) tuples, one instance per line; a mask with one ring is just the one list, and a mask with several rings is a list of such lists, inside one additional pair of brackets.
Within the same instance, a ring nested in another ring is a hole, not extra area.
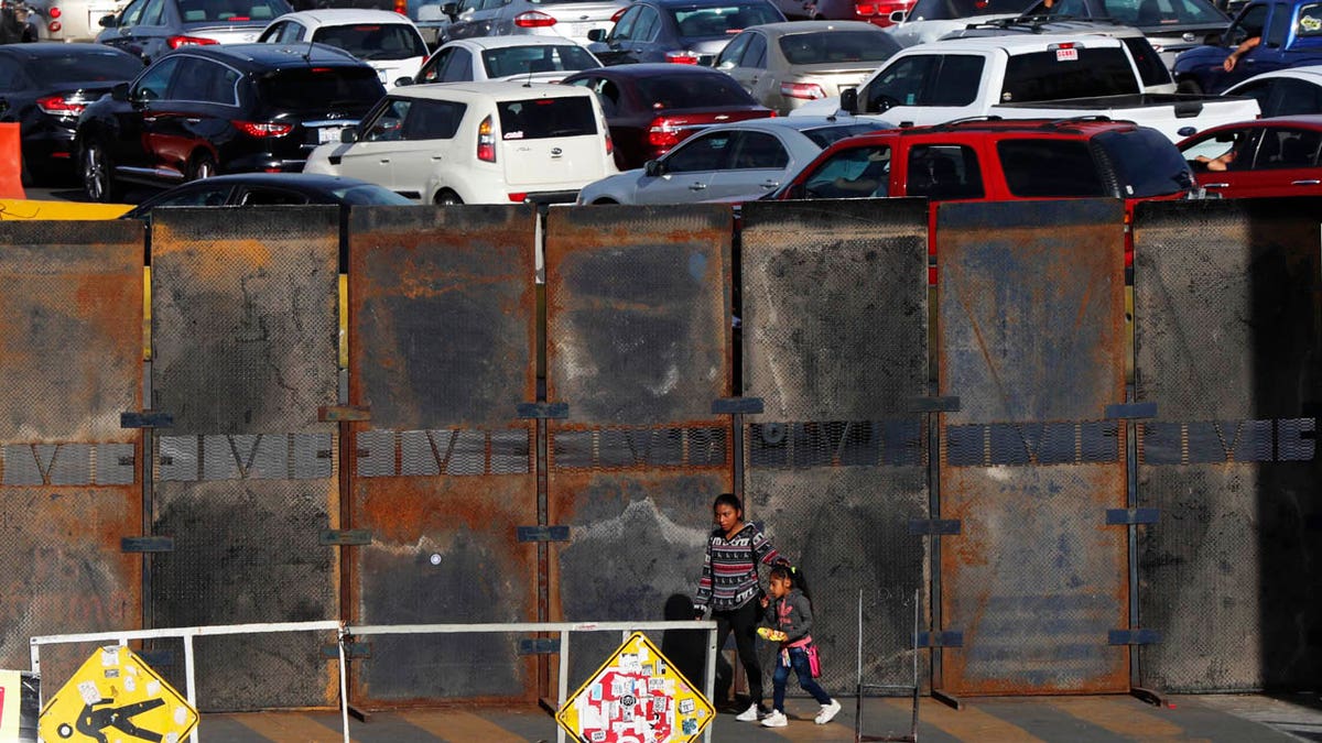
[(459, 0), (440, 8), (449, 17), (446, 41), (475, 36), (561, 36), (587, 44), (608, 29), (629, 0)]

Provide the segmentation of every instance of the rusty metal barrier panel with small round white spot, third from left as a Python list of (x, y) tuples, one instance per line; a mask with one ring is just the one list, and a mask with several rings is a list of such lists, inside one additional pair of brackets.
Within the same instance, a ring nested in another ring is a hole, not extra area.
[[(535, 213), (354, 209), (349, 247), (352, 620), (538, 619)], [(361, 530), (361, 531), (360, 531)], [(533, 698), (512, 635), (375, 637), (357, 705)]]

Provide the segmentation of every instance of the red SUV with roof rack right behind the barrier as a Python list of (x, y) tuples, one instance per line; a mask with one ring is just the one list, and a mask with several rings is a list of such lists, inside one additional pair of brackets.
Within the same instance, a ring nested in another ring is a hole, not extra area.
[[(978, 119), (842, 139), (767, 198), (924, 196), (940, 201), (1185, 198), (1194, 175), (1157, 130), (1088, 119)], [(935, 234), (936, 210), (931, 210)], [(931, 250), (931, 247), (929, 247)], [(1125, 237), (1125, 266), (1133, 242)], [(935, 272), (929, 280), (935, 283)]]

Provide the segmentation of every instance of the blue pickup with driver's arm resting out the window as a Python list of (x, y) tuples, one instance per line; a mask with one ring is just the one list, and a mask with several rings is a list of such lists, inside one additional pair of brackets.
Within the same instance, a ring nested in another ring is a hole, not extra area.
[[(1251, 38), (1260, 44), (1239, 50)], [(1231, 56), (1236, 62), (1225, 70)], [(1222, 93), (1256, 74), (1305, 65), (1322, 65), (1322, 3), (1255, 0), (1219, 38), (1181, 54), (1171, 73), (1181, 90)]]

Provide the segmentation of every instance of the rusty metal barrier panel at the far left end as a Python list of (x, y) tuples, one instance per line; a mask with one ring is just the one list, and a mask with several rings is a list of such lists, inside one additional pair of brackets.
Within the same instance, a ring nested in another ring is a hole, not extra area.
[(141, 259), (140, 222), (0, 223), (0, 668), (33, 635), (140, 627)]

